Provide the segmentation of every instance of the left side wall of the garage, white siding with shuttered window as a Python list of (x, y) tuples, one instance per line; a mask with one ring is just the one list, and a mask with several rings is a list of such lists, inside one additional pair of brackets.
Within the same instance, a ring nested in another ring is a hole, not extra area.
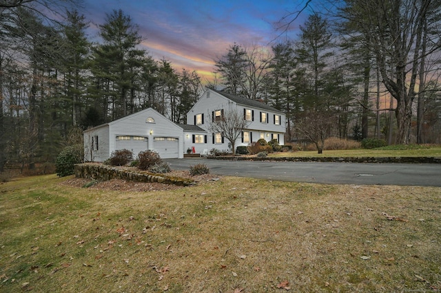
[[(98, 137), (98, 149), (92, 146), (92, 140)], [(84, 160), (86, 162), (104, 162), (109, 158), (109, 125), (103, 124), (99, 127), (83, 132), (84, 138)]]

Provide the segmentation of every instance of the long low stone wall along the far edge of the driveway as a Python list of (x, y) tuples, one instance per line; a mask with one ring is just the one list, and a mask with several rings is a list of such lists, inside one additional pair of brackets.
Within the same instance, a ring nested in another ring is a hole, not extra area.
[(276, 162), (341, 162), (341, 163), (412, 163), (441, 164), (435, 157), (345, 157), (345, 158), (272, 158), (272, 157), (207, 157), (214, 160), (276, 161)]

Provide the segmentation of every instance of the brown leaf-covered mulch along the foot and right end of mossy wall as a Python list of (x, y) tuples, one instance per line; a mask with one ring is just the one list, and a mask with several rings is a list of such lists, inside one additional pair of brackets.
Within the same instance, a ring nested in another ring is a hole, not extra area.
[[(170, 177), (180, 177), (189, 178), (194, 180), (196, 184), (202, 184), (205, 182), (215, 182), (220, 179), (218, 175), (204, 174), (204, 175), (190, 175), (189, 171), (172, 171), (165, 173), (165, 175)], [(61, 182), (63, 185), (74, 186), (74, 187), (84, 187), (86, 184), (91, 184), (92, 180), (85, 178), (72, 178), (70, 180), (65, 180)], [(162, 184), (157, 182), (147, 183), (147, 182), (132, 182), (128, 180), (112, 179), (108, 181), (96, 182), (92, 184), (91, 189), (103, 189), (112, 191), (170, 191), (172, 189), (183, 188), (182, 186), (176, 186), (174, 184)]]

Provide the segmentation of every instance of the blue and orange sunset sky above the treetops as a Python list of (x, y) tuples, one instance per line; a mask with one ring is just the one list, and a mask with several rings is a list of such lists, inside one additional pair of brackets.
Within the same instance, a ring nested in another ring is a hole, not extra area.
[[(84, 0), (81, 11), (90, 23), (90, 37), (112, 10), (123, 10), (138, 25), (141, 48), (156, 61), (165, 58), (176, 71), (196, 70), (203, 82), (213, 79), (214, 60), (230, 45), (274, 45), (295, 38), (308, 11), (283, 34), (278, 22), (303, 8), (307, 0)], [(310, 12), (310, 11), (309, 11)]]

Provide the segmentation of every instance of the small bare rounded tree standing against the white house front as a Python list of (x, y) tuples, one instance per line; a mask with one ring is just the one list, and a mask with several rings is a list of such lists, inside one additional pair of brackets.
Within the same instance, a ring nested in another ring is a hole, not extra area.
[(236, 140), (242, 134), (243, 129), (247, 128), (249, 121), (243, 118), (243, 114), (234, 109), (223, 111), (220, 120), (209, 120), (208, 130), (212, 133), (221, 133), (232, 144), (233, 155), (236, 155)]

